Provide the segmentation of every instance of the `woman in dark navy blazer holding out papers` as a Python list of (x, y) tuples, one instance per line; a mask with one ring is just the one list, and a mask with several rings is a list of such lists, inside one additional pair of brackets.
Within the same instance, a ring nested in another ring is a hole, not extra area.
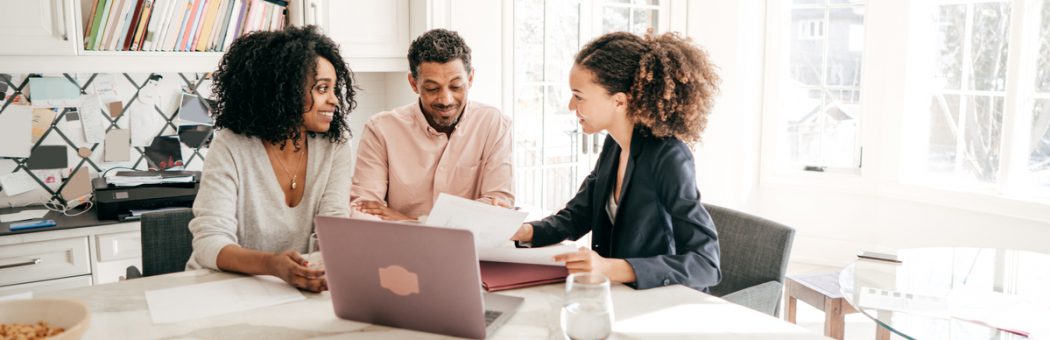
[(575, 197), (512, 239), (543, 247), (590, 232), (590, 248), (554, 257), (569, 273), (596, 272), (635, 289), (718, 283), (718, 237), (687, 145), (707, 125), (714, 69), (674, 34), (612, 33), (584, 46), (569, 76), (569, 110), (585, 133), (609, 133), (605, 147)]

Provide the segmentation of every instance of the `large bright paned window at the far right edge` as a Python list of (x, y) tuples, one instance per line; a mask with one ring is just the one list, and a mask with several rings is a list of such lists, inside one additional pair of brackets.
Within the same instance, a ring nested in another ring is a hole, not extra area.
[(915, 57), (932, 65), (927, 114), (905, 121), (925, 146), (905, 167), (934, 185), (1050, 196), (1050, 0), (932, 5)]

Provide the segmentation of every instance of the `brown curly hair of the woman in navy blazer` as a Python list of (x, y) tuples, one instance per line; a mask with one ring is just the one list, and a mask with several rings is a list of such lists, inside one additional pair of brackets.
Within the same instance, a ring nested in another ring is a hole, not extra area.
[(700, 141), (720, 79), (708, 54), (677, 34), (616, 31), (588, 43), (576, 65), (610, 94), (630, 99), (627, 118), (656, 137)]

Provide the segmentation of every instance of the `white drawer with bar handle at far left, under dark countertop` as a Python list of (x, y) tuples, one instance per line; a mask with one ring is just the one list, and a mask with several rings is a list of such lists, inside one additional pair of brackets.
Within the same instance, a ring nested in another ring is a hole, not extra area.
[(0, 247), (0, 286), (91, 274), (87, 237)]

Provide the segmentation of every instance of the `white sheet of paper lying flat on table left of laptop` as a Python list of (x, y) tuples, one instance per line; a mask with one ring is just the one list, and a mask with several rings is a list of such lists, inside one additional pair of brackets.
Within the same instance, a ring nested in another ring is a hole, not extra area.
[(146, 292), (153, 323), (201, 319), (303, 299), (302, 293), (275, 277), (243, 277)]

